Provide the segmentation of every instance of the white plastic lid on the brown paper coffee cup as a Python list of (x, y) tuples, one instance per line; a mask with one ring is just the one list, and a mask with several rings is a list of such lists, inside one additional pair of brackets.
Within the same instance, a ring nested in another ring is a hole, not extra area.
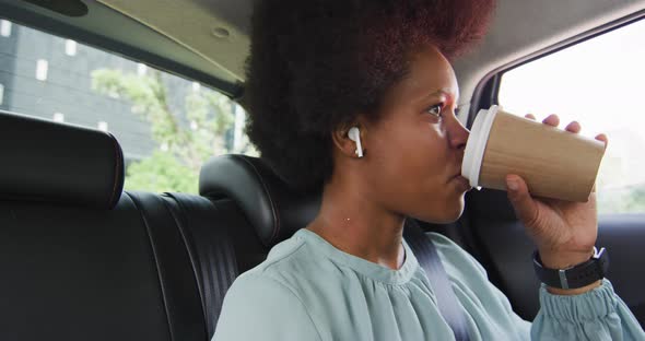
[(491, 127), (499, 109), (499, 106), (493, 105), (488, 110), (479, 110), (472, 124), (468, 142), (466, 142), (464, 162), (461, 163), (461, 175), (470, 181), (470, 186), (477, 187), (478, 189), (481, 189), (479, 185), (481, 163), (486, 150)]

